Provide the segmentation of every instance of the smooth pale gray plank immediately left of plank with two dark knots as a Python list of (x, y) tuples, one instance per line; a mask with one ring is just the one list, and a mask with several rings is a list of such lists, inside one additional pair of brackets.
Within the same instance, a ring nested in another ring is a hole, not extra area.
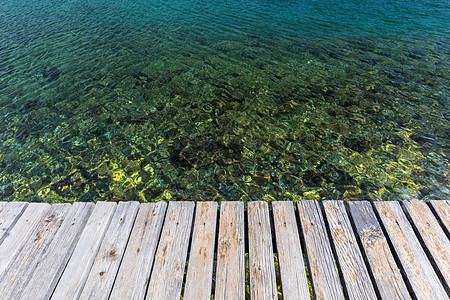
[(78, 299), (100, 243), (116, 209), (114, 202), (97, 202), (56, 286), (52, 299)]

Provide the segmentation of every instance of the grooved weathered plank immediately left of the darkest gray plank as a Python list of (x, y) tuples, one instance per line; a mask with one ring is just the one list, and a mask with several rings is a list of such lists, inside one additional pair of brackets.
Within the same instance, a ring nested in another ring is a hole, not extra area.
[(377, 299), (342, 201), (324, 201), (331, 237), (349, 299)]

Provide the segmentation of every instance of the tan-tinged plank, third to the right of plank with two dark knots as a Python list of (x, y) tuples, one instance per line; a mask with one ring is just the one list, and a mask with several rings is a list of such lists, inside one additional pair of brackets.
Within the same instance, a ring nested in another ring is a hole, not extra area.
[(185, 300), (211, 299), (216, 221), (217, 203), (197, 202), (183, 295)]

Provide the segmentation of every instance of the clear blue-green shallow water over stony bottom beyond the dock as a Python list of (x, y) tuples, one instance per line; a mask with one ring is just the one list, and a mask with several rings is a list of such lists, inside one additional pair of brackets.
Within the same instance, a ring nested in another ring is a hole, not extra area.
[(448, 1), (0, 5), (0, 200), (448, 198)]

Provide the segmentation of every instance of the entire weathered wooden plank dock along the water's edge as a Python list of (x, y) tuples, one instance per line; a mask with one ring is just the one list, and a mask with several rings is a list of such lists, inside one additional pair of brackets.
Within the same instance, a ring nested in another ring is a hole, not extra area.
[(449, 299), (449, 231), (448, 200), (0, 202), (0, 299)]

